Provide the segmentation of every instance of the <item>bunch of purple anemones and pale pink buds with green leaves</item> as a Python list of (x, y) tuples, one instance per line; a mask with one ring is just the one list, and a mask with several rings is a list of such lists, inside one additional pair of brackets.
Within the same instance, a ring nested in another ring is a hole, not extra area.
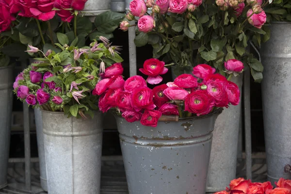
[[(30, 46), (27, 52), (40, 52), (43, 58), (29, 65), (16, 77), (14, 92), (21, 101), (43, 110), (64, 112), (68, 116), (93, 116), (98, 110), (98, 97), (92, 93), (106, 66), (122, 62), (120, 47), (112, 46), (100, 36), (100, 41), (81, 49), (64, 45), (62, 52), (43, 53)], [(113, 65), (113, 67), (116, 64)]]

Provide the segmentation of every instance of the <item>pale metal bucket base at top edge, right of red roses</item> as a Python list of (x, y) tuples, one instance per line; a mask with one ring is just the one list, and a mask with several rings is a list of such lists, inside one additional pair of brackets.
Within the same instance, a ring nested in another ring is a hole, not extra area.
[(88, 0), (83, 9), (85, 16), (97, 16), (102, 12), (110, 11), (111, 0)]

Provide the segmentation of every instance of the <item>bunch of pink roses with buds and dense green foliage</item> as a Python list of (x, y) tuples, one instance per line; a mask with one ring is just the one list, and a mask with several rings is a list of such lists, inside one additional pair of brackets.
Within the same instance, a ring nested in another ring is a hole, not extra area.
[(270, 36), (269, 31), (261, 29), (266, 22), (263, 8), (268, 3), (268, 0), (216, 0), (215, 3), (132, 0), (127, 20), (121, 22), (120, 29), (126, 31), (137, 26), (135, 45), (152, 45), (153, 57), (173, 63), (177, 76), (204, 63), (225, 75), (224, 61), (236, 59), (249, 65), (255, 81), (259, 82), (263, 66), (246, 48), (249, 40), (259, 47), (261, 34)]

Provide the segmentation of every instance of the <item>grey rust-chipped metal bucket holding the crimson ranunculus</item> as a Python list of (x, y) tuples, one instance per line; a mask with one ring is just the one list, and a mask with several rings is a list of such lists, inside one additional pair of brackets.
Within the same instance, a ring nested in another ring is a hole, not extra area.
[(205, 194), (217, 115), (159, 121), (157, 128), (116, 116), (129, 194)]

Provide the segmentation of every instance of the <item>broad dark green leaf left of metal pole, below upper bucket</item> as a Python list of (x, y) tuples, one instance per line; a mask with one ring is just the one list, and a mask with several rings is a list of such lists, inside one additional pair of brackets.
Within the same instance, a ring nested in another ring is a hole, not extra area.
[(112, 33), (123, 18), (124, 14), (107, 11), (97, 15), (94, 23), (99, 32)]

